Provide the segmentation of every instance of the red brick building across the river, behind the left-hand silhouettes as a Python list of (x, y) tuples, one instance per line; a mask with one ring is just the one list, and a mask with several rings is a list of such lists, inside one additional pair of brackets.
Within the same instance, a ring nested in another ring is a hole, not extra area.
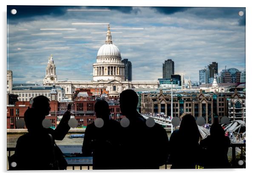
[[(50, 101), (51, 111), (46, 119), (51, 120), (51, 128), (56, 128), (61, 117), (65, 110), (67, 109), (68, 104), (71, 104), (71, 112), (73, 113), (75, 119), (78, 121), (77, 127), (85, 127), (92, 123), (95, 119), (94, 105), (96, 103), (94, 96), (93, 97), (80, 97), (77, 101), (67, 101), (67, 102), (58, 102)], [(93, 99), (93, 100), (91, 100)], [(111, 118), (117, 121), (122, 119), (119, 104), (117, 101), (109, 101), (109, 109)], [(24, 113), (31, 107), (29, 101), (18, 101), (16, 105), (7, 106), (7, 129), (16, 129), (16, 121), (19, 118), (24, 118)], [(26, 128), (26, 126), (24, 127)]]

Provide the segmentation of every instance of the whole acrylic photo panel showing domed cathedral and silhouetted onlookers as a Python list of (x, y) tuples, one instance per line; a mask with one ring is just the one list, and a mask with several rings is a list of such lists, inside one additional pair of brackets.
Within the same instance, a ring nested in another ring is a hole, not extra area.
[(7, 6), (7, 170), (245, 168), (245, 14)]

